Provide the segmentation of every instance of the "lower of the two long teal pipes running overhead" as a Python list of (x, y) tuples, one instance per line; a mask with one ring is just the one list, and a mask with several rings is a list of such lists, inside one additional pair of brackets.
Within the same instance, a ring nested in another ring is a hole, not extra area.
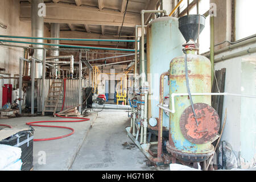
[[(69, 44), (49, 44), (49, 43), (37, 43), (37, 42), (24, 42), (24, 41), (18, 41), (18, 40), (3, 40), (3, 39), (0, 39), (0, 42), (11, 42), (11, 43), (20, 43), (20, 44), (34, 44), (34, 45), (44, 45), (44, 46), (73, 47), (73, 48), (84, 48), (84, 49), (104, 49), (104, 50), (112, 50), (112, 51), (132, 51), (132, 52), (134, 52), (134, 49), (92, 47), (92, 46), (75, 46), (75, 45), (69, 45)], [(41, 49), (44, 49), (44, 48), (41, 48)]]

